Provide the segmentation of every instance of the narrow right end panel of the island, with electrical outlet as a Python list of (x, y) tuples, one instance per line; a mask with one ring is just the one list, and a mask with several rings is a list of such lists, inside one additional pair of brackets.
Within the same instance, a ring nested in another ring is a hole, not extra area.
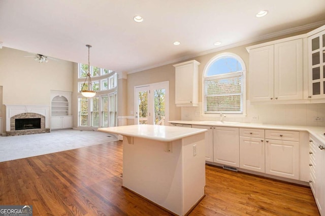
[(205, 134), (182, 139), (183, 215), (204, 197)]

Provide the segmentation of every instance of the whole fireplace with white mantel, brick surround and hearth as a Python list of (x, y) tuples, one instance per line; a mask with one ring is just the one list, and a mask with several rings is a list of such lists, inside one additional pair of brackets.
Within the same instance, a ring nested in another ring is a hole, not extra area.
[(49, 106), (6, 105), (7, 136), (49, 133)]

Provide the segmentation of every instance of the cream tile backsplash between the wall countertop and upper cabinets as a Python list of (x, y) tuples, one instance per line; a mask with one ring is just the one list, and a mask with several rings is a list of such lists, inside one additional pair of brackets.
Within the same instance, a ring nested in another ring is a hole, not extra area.
[[(220, 117), (202, 116), (201, 104), (198, 107), (182, 107), (181, 109), (181, 120), (204, 121), (220, 119)], [(325, 126), (325, 103), (251, 105), (247, 101), (246, 114), (246, 117), (237, 118), (226, 116), (223, 120), (245, 123)], [(318, 117), (319, 121), (314, 120), (316, 117)]]

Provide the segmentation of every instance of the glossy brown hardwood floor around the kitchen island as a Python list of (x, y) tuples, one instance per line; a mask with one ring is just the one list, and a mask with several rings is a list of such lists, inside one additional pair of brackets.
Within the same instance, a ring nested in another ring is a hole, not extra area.
[[(33, 215), (170, 215), (123, 189), (121, 175), (121, 142), (1, 162), (0, 205), (32, 205)], [(189, 215), (319, 215), (310, 188), (209, 165), (205, 193)]]

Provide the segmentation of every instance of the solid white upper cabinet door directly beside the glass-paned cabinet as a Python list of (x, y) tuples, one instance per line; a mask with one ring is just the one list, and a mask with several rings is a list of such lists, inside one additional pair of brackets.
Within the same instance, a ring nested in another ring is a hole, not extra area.
[(274, 45), (274, 99), (303, 99), (303, 39)]

